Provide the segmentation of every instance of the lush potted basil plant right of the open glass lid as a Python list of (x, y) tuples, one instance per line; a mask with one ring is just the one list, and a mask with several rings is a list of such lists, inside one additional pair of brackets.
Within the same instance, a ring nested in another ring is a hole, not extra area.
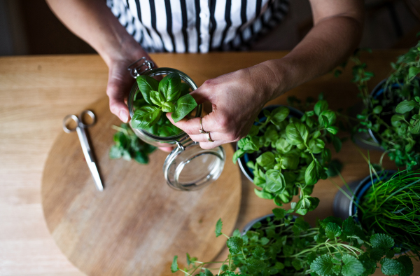
[(253, 170), (254, 184), (260, 188), (255, 188), (255, 193), (260, 198), (273, 199), (279, 206), (290, 202), (293, 195), (300, 195), (289, 212), (307, 214), (319, 202), (310, 196), (314, 184), (328, 177), (331, 151), (325, 144), (332, 142), (337, 152), (342, 146), (335, 136), (336, 113), (328, 109), (324, 99), (300, 119), (288, 117), (286, 106), (263, 112), (266, 119), (257, 120), (248, 135), (239, 140), (233, 162), (246, 153), (255, 153), (255, 161), (246, 164)]

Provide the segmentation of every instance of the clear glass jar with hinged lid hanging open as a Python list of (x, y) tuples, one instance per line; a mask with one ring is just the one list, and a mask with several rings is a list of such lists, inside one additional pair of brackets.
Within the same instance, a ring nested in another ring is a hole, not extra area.
[[(139, 63), (139, 67), (134, 67), (135, 64)], [(142, 67), (146, 67), (146, 69), (139, 73)], [(181, 76), (181, 80), (187, 83), (192, 90), (197, 89), (194, 81), (187, 74), (179, 70), (172, 68), (152, 68), (153, 62), (143, 57), (131, 64), (129, 70), (134, 78), (137, 78), (140, 74), (151, 77), (163, 77), (168, 74), (178, 73)], [(137, 83), (134, 83), (127, 102), (130, 118), (134, 116), (134, 96), (137, 92), (139, 92), (139, 86)], [(191, 114), (190, 118), (200, 117), (202, 114), (202, 105), (197, 106)], [(197, 125), (197, 127), (200, 126)], [(160, 137), (146, 130), (138, 130), (133, 127), (132, 129), (137, 137), (153, 146), (175, 146), (174, 150), (169, 153), (165, 160), (163, 173), (167, 184), (176, 190), (193, 191), (202, 188), (218, 179), (223, 171), (225, 150), (222, 146), (218, 146), (215, 149), (202, 149), (200, 144), (191, 140), (186, 132), (181, 132), (172, 137)]]

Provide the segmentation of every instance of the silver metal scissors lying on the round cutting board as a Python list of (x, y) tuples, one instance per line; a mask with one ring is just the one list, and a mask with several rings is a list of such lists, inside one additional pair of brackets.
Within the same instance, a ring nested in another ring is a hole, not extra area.
[[(92, 123), (84, 123), (83, 118), (85, 115), (90, 116), (92, 119)], [(69, 128), (69, 123), (71, 123), (71, 120), (76, 123), (75, 127)], [(85, 159), (87, 162), (87, 166), (89, 167), (90, 173), (92, 174), (94, 185), (96, 186), (98, 191), (104, 191), (104, 186), (102, 185), (101, 177), (99, 177), (99, 172), (97, 165), (94, 161), (94, 156), (92, 153), (92, 149), (90, 148), (90, 144), (87, 141), (86, 131), (85, 128), (90, 127), (96, 123), (96, 117), (94, 116), (94, 113), (90, 110), (85, 110), (80, 113), (80, 116), (76, 115), (67, 115), (64, 117), (63, 120), (63, 130), (67, 133), (73, 132), (76, 130), (80, 144), (82, 145), (83, 154), (85, 155)]]

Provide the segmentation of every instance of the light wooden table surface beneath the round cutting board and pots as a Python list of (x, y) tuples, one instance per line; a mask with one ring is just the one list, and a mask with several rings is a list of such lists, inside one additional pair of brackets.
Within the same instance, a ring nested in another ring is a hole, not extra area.
[[(376, 74), (370, 82), (371, 89), (388, 75), (389, 62), (401, 53), (381, 50), (363, 55)], [(209, 78), (284, 55), (286, 52), (152, 57), (160, 66), (180, 69), (201, 85)], [(83, 275), (66, 260), (48, 233), (41, 207), (41, 177), (50, 146), (62, 132), (62, 118), (103, 97), (107, 77), (108, 69), (97, 55), (0, 57), (0, 275)], [(349, 69), (339, 78), (326, 74), (286, 96), (304, 99), (324, 92), (332, 109), (346, 108), (358, 102), (356, 87), (350, 79)], [(286, 104), (286, 96), (273, 103)], [(374, 160), (379, 156), (378, 152), (371, 153)], [(367, 165), (351, 142), (344, 143), (339, 159), (344, 162), (343, 175), (347, 181), (367, 175)], [(386, 166), (393, 168), (389, 162)], [(268, 214), (274, 207), (271, 200), (254, 195), (254, 186), (245, 177), (242, 184), (238, 228)], [(321, 198), (321, 203), (307, 215), (309, 222), (332, 214), (336, 191), (328, 180), (316, 184), (313, 195)], [(219, 258), (225, 254), (222, 251)], [(419, 271), (419, 263), (414, 265), (414, 270)]]

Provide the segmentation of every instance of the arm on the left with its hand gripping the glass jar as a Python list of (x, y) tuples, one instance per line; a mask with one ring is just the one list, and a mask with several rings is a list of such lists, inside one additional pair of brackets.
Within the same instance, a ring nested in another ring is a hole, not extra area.
[(48, 6), (67, 28), (97, 50), (109, 67), (106, 95), (109, 108), (127, 122), (125, 98), (134, 79), (127, 66), (140, 57), (148, 56), (111, 13), (104, 0), (46, 0)]

